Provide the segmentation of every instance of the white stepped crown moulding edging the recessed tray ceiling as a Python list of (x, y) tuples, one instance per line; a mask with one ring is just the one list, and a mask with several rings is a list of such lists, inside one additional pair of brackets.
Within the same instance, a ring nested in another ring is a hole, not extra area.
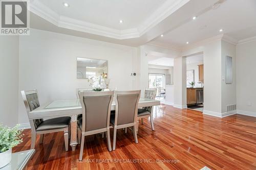
[(163, 19), (174, 13), (176, 10), (181, 8), (189, 1), (190, 0), (177, 0), (175, 2), (166, 1), (161, 7), (159, 7), (154, 13), (152, 13), (152, 15), (149, 16), (138, 28), (126, 30), (112, 29), (109, 27), (96, 25), (91, 22), (61, 16), (39, 1), (31, 1), (30, 11), (48, 20), (53, 25), (61, 28), (96, 34), (115, 39), (129, 39), (137, 38), (145, 34), (147, 31), (158, 25), (158, 23), (160, 23)]

